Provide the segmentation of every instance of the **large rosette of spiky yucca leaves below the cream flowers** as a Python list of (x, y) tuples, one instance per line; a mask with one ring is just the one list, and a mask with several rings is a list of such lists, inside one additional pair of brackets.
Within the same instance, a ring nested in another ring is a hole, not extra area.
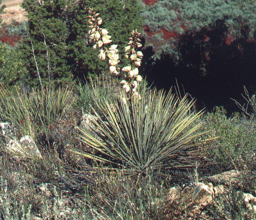
[(192, 166), (202, 125), (192, 126), (202, 114), (191, 110), (194, 101), (163, 90), (142, 93), (141, 100), (124, 97), (120, 94), (116, 102), (103, 104), (96, 101), (94, 134), (79, 129), (81, 140), (94, 152), (76, 153), (132, 176)]

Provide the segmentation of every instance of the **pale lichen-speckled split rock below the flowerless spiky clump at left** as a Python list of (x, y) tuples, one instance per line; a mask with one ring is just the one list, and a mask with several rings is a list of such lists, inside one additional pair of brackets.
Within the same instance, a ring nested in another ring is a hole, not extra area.
[(10, 140), (7, 145), (7, 150), (10, 153), (14, 153), (16, 157), (30, 158), (30, 159), (41, 159), (42, 155), (38, 150), (34, 140), (26, 135), (17, 140)]

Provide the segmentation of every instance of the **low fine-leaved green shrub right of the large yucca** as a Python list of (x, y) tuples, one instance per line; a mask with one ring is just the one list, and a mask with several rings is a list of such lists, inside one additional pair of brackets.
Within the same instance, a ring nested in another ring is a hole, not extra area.
[(239, 117), (239, 114), (227, 117), (222, 107), (216, 107), (215, 113), (205, 114), (202, 120), (202, 131), (209, 130), (209, 136), (219, 137), (212, 140), (204, 152), (208, 163), (215, 168), (214, 172), (232, 169), (255, 171), (255, 118)]

